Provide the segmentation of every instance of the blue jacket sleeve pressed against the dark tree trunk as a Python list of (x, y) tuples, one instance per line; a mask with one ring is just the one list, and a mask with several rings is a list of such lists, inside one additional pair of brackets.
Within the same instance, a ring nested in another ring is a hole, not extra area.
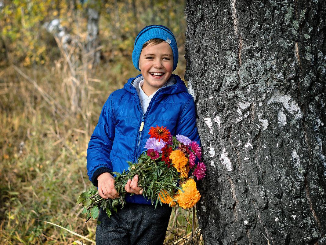
[(189, 95), (189, 99), (178, 119), (176, 134), (184, 135), (200, 145), (198, 129), (196, 127), (195, 102), (191, 95)]

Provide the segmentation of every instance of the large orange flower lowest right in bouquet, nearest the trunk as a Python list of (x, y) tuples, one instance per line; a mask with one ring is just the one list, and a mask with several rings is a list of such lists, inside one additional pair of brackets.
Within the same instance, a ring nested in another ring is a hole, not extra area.
[(193, 207), (200, 199), (200, 194), (197, 190), (196, 182), (193, 179), (188, 179), (184, 184), (181, 185), (181, 187), (182, 190), (178, 191), (179, 206), (182, 208)]

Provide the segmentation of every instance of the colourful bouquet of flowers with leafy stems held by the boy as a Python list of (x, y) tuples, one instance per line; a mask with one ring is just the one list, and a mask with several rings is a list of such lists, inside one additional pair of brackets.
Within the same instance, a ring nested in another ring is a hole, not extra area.
[(183, 135), (172, 136), (163, 126), (151, 127), (149, 134), (147, 150), (138, 162), (128, 162), (128, 171), (113, 172), (116, 175), (114, 186), (120, 194), (118, 199), (103, 199), (96, 190), (85, 191), (79, 196), (77, 204), (84, 206), (82, 213), (87, 215), (86, 222), (90, 218), (97, 219), (99, 208), (106, 210), (110, 217), (118, 205), (123, 207), (127, 193), (125, 185), (136, 174), (139, 175), (138, 185), (143, 188), (142, 195), (155, 203), (155, 207), (165, 203), (190, 208), (199, 201), (200, 193), (193, 178), (200, 180), (205, 176), (201, 147)]

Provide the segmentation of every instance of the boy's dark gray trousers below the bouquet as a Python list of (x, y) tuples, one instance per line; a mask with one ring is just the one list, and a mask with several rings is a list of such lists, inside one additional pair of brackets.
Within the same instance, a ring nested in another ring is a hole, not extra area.
[(109, 218), (100, 209), (96, 245), (161, 245), (164, 242), (172, 208), (168, 204), (127, 203)]

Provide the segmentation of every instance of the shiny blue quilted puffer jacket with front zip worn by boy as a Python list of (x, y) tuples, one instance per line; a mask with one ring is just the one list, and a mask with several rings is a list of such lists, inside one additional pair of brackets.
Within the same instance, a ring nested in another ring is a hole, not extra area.
[[(95, 186), (100, 174), (123, 172), (128, 169), (127, 161), (137, 162), (146, 150), (152, 126), (167, 127), (172, 135), (181, 134), (200, 143), (195, 103), (181, 78), (172, 74), (167, 85), (156, 91), (145, 114), (138, 92), (142, 79), (141, 75), (130, 78), (103, 106), (87, 149), (87, 173)], [(151, 204), (142, 195), (127, 195), (126, 202)]]

